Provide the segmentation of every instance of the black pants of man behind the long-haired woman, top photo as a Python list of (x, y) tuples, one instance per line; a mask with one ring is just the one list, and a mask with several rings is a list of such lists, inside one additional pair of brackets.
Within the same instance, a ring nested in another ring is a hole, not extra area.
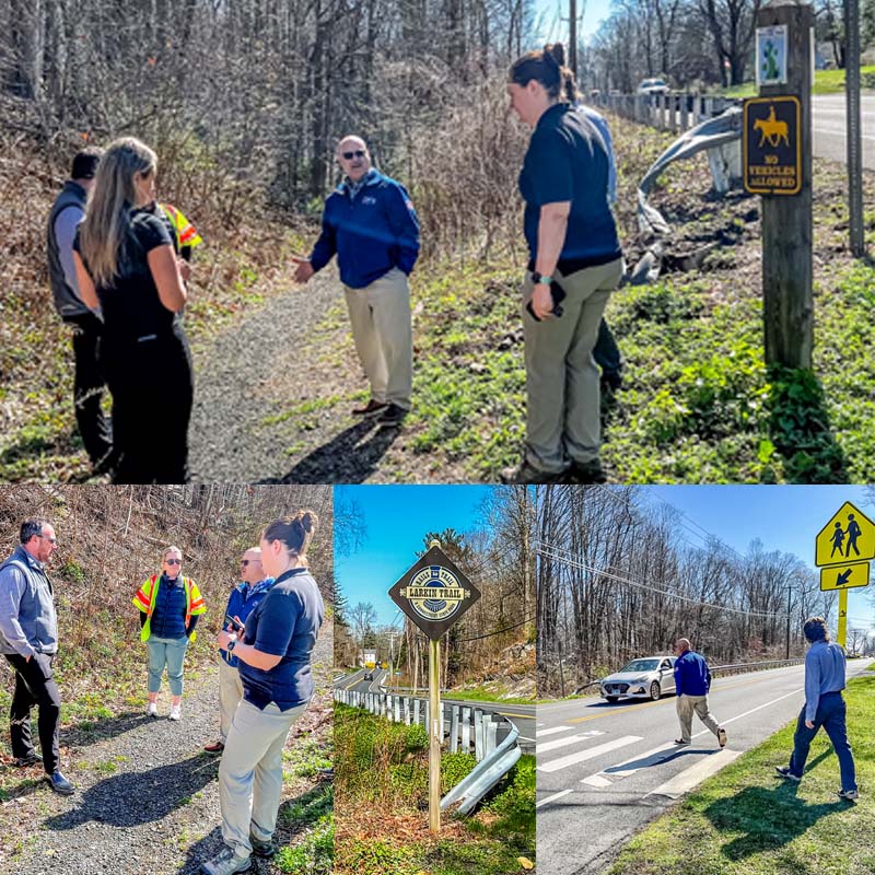
[(93, 313), (68, 316), (73, 327), (73, 405), (82, 443), (93, 465), (105, 460), (113, 450), (109, 423), (101, 408), (106, 381), (97, 363), (103, 323)]

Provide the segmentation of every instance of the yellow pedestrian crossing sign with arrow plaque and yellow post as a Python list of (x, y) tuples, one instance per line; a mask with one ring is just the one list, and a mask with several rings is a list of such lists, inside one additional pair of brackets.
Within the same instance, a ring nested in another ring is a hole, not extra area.
[(868, 586), (870, 560), (875, 559), (875, 523), (845, 501), (817, 533), (814, 563), (820, 567), (820, 590), (839, 591), (837, 641), (848, 640), (848, 590)]

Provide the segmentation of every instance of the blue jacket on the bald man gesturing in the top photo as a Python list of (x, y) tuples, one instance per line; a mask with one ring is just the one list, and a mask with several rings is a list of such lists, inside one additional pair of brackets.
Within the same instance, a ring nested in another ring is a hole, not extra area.
[(419, 221), (407, 189), (373, 167), (358, 185), (345, 179), (325, 201), (310, 262), (322, 270), (334, 255), (350, 289), (364, 289), (394, 267), (409, 275), (419, 255)]

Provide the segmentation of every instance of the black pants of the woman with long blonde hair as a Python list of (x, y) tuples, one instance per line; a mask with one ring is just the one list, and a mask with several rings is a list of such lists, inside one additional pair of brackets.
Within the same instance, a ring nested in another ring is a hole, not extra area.
[(185, 336), (128, 343), (106, 336), (101, 362), (113, 393), (114, 482), (188, 482), (195, 387)]

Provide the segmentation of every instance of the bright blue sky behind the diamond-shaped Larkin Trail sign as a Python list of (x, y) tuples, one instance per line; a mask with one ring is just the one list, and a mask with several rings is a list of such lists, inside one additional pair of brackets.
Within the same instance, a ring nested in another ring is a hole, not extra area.
[(335, 505), (354, 501), (366, 526), (362, 544), (348, 556), (335, 556), (337, 576), (347, 604), (370, 602), (383, 626), (401, 615), (388, 597), (389, 587), (412, 565), (428, 532), (478, 527), (483, 499), (498, 487), (488, 486), (343, 486), (335, 490)]

